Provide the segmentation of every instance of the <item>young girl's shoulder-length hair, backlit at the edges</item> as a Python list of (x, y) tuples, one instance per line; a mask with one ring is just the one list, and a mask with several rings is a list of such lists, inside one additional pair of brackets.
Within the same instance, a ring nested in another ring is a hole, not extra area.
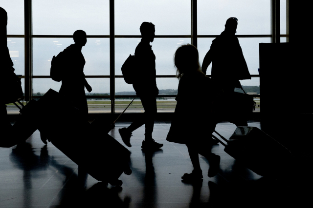
[[(201, 72), (198, 49), (190, 44), (180, 46), (174, 54), (174, 64), (178, 79), (188, 72)], [(203, 74), (203, 73), (202, 73)]]

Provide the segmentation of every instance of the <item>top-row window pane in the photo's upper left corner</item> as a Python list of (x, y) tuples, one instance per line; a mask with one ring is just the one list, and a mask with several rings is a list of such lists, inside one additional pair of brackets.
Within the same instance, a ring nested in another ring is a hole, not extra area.
[(24, 1), (0, 0), (0, 6), (8, 14), (7, 35), (24, 35)]

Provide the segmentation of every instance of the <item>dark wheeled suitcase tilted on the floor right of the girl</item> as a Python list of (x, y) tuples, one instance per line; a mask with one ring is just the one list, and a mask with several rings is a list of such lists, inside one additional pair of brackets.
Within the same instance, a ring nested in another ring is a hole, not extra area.
[(227, 142), (225, 145), (212, 135), (225, 146), (225, 152), (259, 175), (279, 174), (291, 168), (291, 152), (256, 127), (237, 127), (228, 141), (217, 134)]

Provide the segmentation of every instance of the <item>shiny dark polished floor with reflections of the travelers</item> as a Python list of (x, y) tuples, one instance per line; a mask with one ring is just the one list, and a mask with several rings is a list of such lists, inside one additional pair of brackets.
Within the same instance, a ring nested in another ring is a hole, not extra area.
[[(116, 124), (110, 134), (122, 143), (118, 129), (129, 124)], [(248, 125), (261, 126), (260, 122)], [(221, 144), (212, 148), (221, 155), (218, 175), (208, 178), (208, 163), (200, 157), (203, 181), (183, 183), (180, 177), (193, 170), (192, 164), (185, 145), (165, 140), (169, 128), (168, 122), (156, 122), (153, 137), (164, 146), (153, 153), (141, 150), (144, 127), (133, 132), (132, 147), (128, 148), (133, 173), (121, 175), (122, 187), (106, 186), (88, 176), (87, 187), (82, 188), (78, 166), (51, 143), (44, 145), (38, 131), (24, 144), (0, 148), (0, 208), (294, 207), (306, 199), (302, 193), (308, 191), (294, 183), (302, 183), (299, 177), (261, 177), (225, 153)], [(230, 123), (217, 125), (226, 138), (235, 128)]]

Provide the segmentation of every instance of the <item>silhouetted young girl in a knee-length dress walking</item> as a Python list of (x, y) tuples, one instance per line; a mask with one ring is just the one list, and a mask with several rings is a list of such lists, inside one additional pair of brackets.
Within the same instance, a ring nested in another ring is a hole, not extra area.
[[(186, 144), (194, 170), (185, 173), (184, 181), (197, 181), (203, 178), (199, 163), (199, 154), (209, 161), (208, 176), (217, 174), (220, 156), (211, 152), (212, 144), (207, 139), (215, 127), (212, 113), (214, 94), (219, 93), (211, 78), (204, 75), (199, 64), (199, 54), (195, 46), (180, 46), (174, 57), (179, 78), (177, 105), (174, 119), (166, 140)], [(221, 91), (221, 90), (220, 90)], [(190, 111), (193, 100), (197, 99), (197, 110)]]

